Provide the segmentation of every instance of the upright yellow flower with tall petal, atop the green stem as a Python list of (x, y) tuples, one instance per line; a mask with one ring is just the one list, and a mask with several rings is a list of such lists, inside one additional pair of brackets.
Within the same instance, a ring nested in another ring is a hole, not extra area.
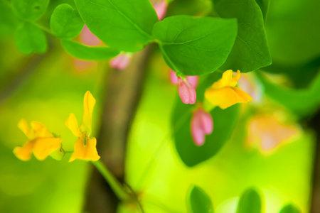
[(78, 137), (78, 140), (75, 141), (75, 151), (73, 151), (73, 155), (71, 155), (69, 162), (75, 159), (92, 161), (100, 159), (96, 148), (97, 140), (90, 137), (92, 132), (92, 111), (93, 107), (95, 107), (95, 98), (89, 91), (85, 93), (83, 107), (84, 111), (80, 126), (78, 126), (78, 121), (73, 113), (71, 113), (68, 120), (65, 121), (65, 125)]

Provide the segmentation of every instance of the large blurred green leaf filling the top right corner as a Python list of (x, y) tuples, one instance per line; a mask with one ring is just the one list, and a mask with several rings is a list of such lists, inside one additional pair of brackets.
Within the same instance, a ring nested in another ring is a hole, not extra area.
[(303, 65), (320, 55), (320, 1), (271, 1), (266, 23), (272, 60)]

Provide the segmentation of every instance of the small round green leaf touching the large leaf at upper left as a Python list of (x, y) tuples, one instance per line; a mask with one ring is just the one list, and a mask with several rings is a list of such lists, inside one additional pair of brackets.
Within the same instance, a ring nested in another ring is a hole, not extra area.
[(59, 38), (74, 38), (84, 24), (78, 11), (69, 4), (58, 5), (50, 18), (51, 31)]

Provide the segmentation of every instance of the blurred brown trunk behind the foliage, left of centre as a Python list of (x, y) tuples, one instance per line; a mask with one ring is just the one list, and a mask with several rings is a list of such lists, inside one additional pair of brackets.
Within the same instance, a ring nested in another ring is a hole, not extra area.
[[(107, 168), (123, 182), (127, 136), (142, 93), (142, 84), (153, 45), (135, 53), (126, 70), (112, 70), (107, 77), (97, 150)], [(118, 200), (101, 175), (94, 170), (87, 189), (85, 210), (116, 212)]]

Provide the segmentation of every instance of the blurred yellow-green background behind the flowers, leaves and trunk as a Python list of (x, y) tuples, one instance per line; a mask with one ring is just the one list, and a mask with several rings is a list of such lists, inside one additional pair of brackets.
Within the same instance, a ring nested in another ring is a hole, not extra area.
[[(39, 23), (48, 26), (50, 14), (60, 3), (73, 5), (72, 1), (51, 1)], [(168, 16), (207, 13), (208, 5), (210, 1), (204, 0), (172, 1)], [(125, 163), (125, 180), (141, 193), (145, 212), (186, 212), (191, 184), (206, 191), (217, 213), (235, 212), (239, 196), (252, 186), (265, 200), (266, 213), (279, 212), (289, 202), (309, 212), (316, 137), (305, 124), (319, 110), (319, 8), (316, 0), (270, 1), (266, 31), (273, 64), (262, 69), (268, 77), (260, 71), (254, 80), (262, 87), (262, 100), (241, 106), (225, 146), (193, 168), (186, 167), (176, 152), (171, 127), (176, 86), (169, 82), (161, 53), (153, 51), (129, 131)], [(17, 124), (21, 118), (40, 121), (62, 136), (66, 151), (73, 151), (75, 137), (65, 127), (68, 114), (75, 113), (80, 121), (82, 98), (90, 90), (97, 99), (95, 135), (105, 78), (114, 70), (108, 62), (77, 69), (75, 59), (50, 35), (47, 53), (22, 55), (13, 38), (18, 22), (6, 0), (0, 0), (0, 212), (82, 212), (91, 165), (80, 160), (68, 163), (70, 154), (61, 162), (18, 160), (12, 150), (23, 145), (26, 136)], [(296, 102), (290, 103), (292, 99)], [(261, 114), (275, 114), (279, 120), (272, 124), (284, 123), (294, 130), (284, 138), (270, 130), (279, 144), (269, 152), (262, 151), (259, 141), (247, 142), (250, 122)], [(130, 209), (122, 205), (119, 212), (134, 211)]]

